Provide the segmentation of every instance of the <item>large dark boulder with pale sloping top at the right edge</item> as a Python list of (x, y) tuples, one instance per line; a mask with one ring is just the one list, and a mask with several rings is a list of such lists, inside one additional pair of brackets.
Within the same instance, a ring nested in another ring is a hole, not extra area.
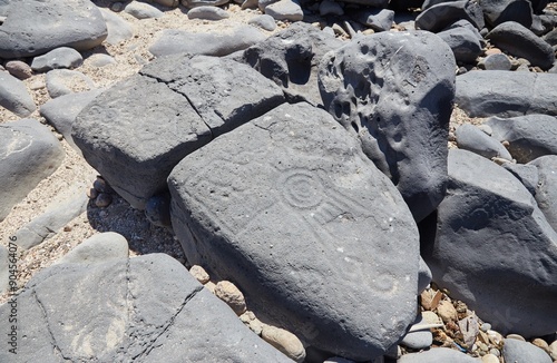
[(557, 233), (510, 173), (449, 151), (449, 187), (434, 241), (422, 243), (433, 281), (501, 334), (557, 330)]

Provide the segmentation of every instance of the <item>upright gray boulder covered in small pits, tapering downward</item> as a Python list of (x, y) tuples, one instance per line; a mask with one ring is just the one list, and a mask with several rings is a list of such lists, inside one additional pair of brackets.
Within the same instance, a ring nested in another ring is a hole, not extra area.
[(442, 200), (455, 57), (428, 31), (362, 37), (320, 65), (325, 109), (399, 188), (416, 220)]

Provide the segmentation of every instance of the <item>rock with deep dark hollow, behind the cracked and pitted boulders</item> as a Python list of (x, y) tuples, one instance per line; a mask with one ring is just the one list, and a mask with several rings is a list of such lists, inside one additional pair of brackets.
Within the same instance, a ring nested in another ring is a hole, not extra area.
[(322, 105), (317, 86), (317, 66), (330, 50), (343, 45), (333, 36), (309, 23), (296, 22), (235, 57), (261, 72), (293, 101)]

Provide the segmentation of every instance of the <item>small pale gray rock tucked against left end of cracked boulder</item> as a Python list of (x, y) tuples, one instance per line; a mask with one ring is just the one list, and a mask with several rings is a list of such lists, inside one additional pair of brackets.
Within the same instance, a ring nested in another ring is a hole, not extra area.
[(52, 125), (60, 133), (66, 141), (76, 150), (81, 150), (74, 143), (71, 128), (81, 110), (89, 105), (95, 97), (100, 95), (102, 89), (96, 89), (87, 92), (69, 94), (48, 100), (39, 109), (40, 116)]

